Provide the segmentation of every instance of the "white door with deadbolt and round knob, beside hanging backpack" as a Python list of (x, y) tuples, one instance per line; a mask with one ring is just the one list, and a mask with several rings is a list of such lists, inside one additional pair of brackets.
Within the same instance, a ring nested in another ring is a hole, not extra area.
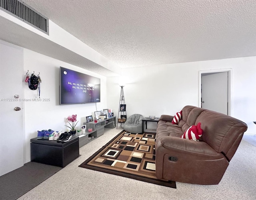
[(22, 77), (23, 49), (0, 41), (0, 176), (24, 165)]

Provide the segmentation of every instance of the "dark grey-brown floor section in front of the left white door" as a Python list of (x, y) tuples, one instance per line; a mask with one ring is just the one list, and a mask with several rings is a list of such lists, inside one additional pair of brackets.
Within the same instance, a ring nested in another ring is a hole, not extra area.
[(60, 171), (62, 167), (29, 162), (0, 176), (0, 200), (15, 200)]

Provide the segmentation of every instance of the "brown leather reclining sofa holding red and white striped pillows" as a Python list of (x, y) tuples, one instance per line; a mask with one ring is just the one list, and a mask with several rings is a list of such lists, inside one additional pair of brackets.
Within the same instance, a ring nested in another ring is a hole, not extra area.
[[(178, 125), (172, 124), (172, 119), (173, 116), (162, 115), (157, 125), (156, 177), (192, 184), (218, 184), (247, 125), (195, 106), (182, 109)], [(199, 122), (203, 129), (199, 141), (180, 138), (191, 125)]]

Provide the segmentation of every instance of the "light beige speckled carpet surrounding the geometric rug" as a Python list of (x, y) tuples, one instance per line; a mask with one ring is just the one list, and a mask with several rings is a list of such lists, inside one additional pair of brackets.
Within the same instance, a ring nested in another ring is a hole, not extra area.
[[(30, 190), (19, 200), (255, 200), (256, 147), (241, 142), (218, 185), (176, 182), (177, 189), (78, 167), (122, 128), (80, 148), (80, 157)], [(210, 173), (210, 172), (209, 172)]]

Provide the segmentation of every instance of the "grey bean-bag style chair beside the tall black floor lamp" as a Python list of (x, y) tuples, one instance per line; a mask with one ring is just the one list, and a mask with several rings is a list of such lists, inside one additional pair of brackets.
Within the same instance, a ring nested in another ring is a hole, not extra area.
[(124, 122), (124, 130), (131, 133), (142, 133), (142, 119), (141, 114), (133, 114)]

